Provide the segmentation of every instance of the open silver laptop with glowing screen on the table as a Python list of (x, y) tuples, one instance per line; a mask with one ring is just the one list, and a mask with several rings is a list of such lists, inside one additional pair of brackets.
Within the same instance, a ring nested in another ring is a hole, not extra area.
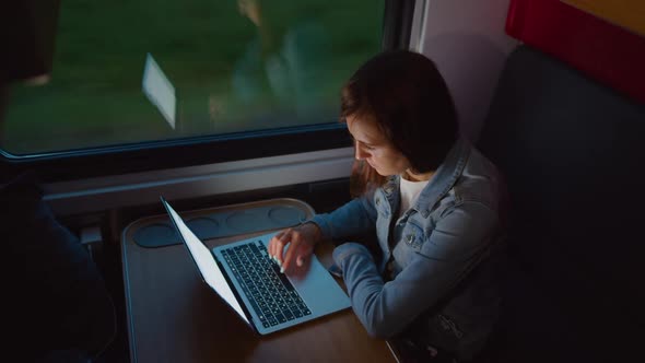
[(277, 232), (209, 249), (161, 197), (202, 280), (259, 335), (291, 328), (351, 306), (312, 255), (300, 273), (280, 273), (267, 246)]

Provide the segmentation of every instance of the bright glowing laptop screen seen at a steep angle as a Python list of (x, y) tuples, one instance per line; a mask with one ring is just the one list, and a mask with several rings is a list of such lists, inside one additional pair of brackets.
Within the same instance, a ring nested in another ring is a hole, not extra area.
[(192, 256), (192, 260), (197, 265), (203, 281), (208, 283), (222, 298), (233, 307), (233, 309), (246, 321), (246, 324), (250, 324), (248, 318), (244, 314), (244, 311), (231, 286), (226, 282), (226, 279), (222, 274), (215, 258), (211, 254), (210, 249), (201, 242), (199, 238), (188, 229), (184, 220), (175, 212), (175, 210), (166, 202), (166, 200), (162, 197), (162, 202), (168, 213), (171, 214), (171, 219), (173, 223), (177, 227), (179, 234), (181, 235), (181, 239), (189, 249), (190, 256)]

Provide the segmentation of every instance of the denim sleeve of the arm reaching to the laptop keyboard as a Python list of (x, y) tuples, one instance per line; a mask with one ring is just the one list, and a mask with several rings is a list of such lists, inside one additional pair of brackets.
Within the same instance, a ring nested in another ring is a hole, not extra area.
[(354, 198), (331, 213), (316, 214), (308, 222), (316, 223), (322, 236), (330, 239), (363, 235), (374, 231), (376, 209), (372, 203), (372, 194)]

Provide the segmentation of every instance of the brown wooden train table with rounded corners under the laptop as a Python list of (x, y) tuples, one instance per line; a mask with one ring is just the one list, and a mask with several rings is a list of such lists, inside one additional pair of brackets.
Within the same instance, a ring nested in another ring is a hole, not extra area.
[[(179, 213), (186, 219), (245, 207)], [(310, 213), (313, 210), (307, 218)], [(201, 280), (184, 245), (146, 248), (133, 242), (137, 226), (167, 220), (165, 214), (139, 220), (121, 238), (132, 363), (396, 362), (386, 342), (367, 336), (351, 309), (269, 336), (256, 335)], [(268, 232), (208, 239), (206, 244), (213, 247)], [(316, 250), (324, 265), (330, 261), (330, 250), (329, 245)]]

